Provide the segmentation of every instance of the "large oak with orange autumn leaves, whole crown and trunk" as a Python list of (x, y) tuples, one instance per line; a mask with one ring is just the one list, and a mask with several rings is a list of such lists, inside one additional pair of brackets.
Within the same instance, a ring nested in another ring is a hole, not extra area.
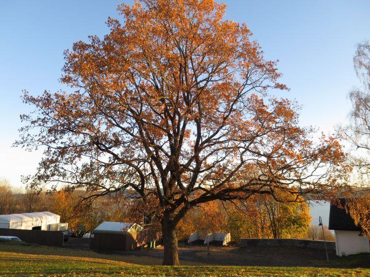
[[(245, 24), (214, 0), (120, 5), (110, 32), (65, 51), (71, 92), (24, 94), (18, 144), (43, 146), (32, 185), (60, 182), (91, 197), (133, 192), (150, 199), (164, 261), (178, 261), (175, 227), (192, 207), (275, 190), (336, 188), (343, 160), (332, 137), (311, 140), (295, 103), (268, 94), (279, 83)], [(323, 195), (323, 194), (321, 194)]]

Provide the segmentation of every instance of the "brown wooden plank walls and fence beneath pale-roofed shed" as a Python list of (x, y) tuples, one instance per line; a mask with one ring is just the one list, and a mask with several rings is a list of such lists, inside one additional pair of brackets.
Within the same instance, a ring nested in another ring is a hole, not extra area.
[(151, 229), (145, 229), (135, 234), (93, 233), (90, 237), (90, 248), (131, 251), (160, 239), (161, 233)]

